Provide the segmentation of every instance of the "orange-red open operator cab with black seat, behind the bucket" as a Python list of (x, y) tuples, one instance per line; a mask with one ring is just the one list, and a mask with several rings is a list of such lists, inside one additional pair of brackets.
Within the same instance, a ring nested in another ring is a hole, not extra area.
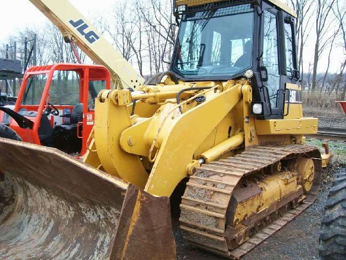
[(14, 129), (25, 142), (83, 155), (94, 124), (95, 98), (110, 88), (108, 70), (98, 65), (55, 64), (25, 74), (14, 111), (32, 121)]

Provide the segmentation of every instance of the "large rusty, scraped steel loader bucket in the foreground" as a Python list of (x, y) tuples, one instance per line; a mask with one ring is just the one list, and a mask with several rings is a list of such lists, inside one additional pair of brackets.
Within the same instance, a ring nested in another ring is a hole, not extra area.
[(0, 259), (174, 258), (168, 198), (0, 138)]

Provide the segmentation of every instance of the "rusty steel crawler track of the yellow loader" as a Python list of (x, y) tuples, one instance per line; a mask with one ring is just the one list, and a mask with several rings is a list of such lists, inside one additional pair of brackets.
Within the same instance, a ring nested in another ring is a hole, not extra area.
[[(314, 185), (299, 207), (289, 210), (252, 237), (245, 238), (241, 231), (226, 228), (227, 207), (239, 180), (290, 156), (319, 158), (320, 154), (316, 148), (303, 145), (259, 146), (241, 155), (199, 167), (190, 177), (180, 204), (180, 229), (185, 239), (204, 250), (230, 259), (239, 259), (303, 212), (315, 201), (319, 189), (321, 172), (318, 159), (315, 162), (317, 167)], [(253, 225), (250, 224), (248, 228)], [(229, 242), (237, 238), (241, 238), (241, 243), (244, 243), (230, 249)]]

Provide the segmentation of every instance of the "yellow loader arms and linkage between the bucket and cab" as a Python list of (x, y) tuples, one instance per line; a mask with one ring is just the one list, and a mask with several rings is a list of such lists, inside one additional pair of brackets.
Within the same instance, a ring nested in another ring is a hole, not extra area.
[[(195, 86), (204, 86), (195, 87), (198, 91), (201, 91), (199, 88), (206, 90), (189, 94), (196, 95), (190, 98), (191, 102), (198, 95), (205, 97), (206, 100), (182, 114), (178, 112), (178, 105), (164, 101), (178, 94), (190, 92), (189, 88), (186, 88), (188, 84), (153, 89), (144, 86), (138, 92), (129, 90), (100, 92), (95, 102), (97, 113), (92, 142), (94, 146), (87, 152), (85, 162), (94, 167), (102, 166), (107, 173), (133, 183), (149, 194), (170, 197), (177, 184), (188, 176), (187, 168), (190, 165), (192, 167), (197, 163), (196, 159), (202, 157), (195, 156), (198, 147), (242, 100), (242, 91), (248, 89), (251, 91), (249, 85), (244, 86), (244, 83), (247, 84), (245, 81), (242, 83), (243, 85), (234, 82), (225, 85), (210, 82), (195, 84)], [(143, 117), (137, 123), (131, 121), (127, 105), (130, 105), (132, 100), (152, 104), (154, 97), (159, 99), (158, 103), (165, 104), (153, 116)], [(234, 129), (236, 128), (238, 126), (234, 125)], [(239, 128), (242, 129), (242, 126), (239, 125)], [(231, 146), (237, 148), (243, 144), (243, 131), (240, 131), (239, 140), (234, 143), (231, 140)], [(227, 147), (227, 151), (231, 150), (229, 146)], [(175, 153), (176, 151), (181, 152)], [(219, 156), (220, 153), (216, 157)], [(148, 169), (146, 172), (142, 164), (146, 159), (153, 163), (149, 175)]]

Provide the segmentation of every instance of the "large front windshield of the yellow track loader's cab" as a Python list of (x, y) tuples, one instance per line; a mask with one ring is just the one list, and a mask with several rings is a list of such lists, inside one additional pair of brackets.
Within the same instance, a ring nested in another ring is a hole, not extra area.
[(182, 16), (173, 70), (184, 78), (231, 78), (252, 65), (254, 9), (242, 4)]

